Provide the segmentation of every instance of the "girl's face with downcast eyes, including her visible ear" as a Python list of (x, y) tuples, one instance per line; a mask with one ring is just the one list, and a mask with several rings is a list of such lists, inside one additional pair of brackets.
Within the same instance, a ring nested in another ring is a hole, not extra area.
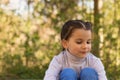
[(63, 47), (77, 57), (84, 58), (91, 50), (91, 31), (75, 29), (68, 40), (63, 41)]

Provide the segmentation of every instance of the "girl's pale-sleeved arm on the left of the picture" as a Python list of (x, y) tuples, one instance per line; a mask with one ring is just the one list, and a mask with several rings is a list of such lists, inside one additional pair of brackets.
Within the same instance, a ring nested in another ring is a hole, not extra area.
[(58, 80), (59, 72), (61, 70), (60, 60), (55, 56), (45, 73), (44, 80)]

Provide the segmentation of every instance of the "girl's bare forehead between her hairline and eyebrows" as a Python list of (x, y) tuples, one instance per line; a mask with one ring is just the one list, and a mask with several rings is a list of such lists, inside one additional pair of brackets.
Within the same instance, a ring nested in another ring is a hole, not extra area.
[(73, 30), (70, 38), (91, 39), (91, 30), (75, 29)]

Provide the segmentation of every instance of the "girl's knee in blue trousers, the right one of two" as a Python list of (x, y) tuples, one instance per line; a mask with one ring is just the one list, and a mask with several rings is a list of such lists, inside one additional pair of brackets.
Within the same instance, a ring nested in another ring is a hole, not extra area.
[(84, 68), (80, 72), (80, 78), (81, 80), (98, 80), (98, 74), (93, 68)]

